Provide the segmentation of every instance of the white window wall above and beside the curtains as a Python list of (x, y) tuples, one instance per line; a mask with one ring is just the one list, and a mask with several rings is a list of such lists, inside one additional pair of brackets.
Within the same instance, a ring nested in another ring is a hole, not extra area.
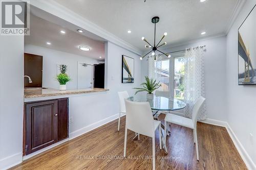
[[(163, 50), (175, 52), (189, 47), (205, 47), (205, 96), (208, 118), (227, 120), (226, 101), (226, 36), (202, 39), (186, 45)], [(143, 60), (142, 75), (147, 75), (147, 61)]]

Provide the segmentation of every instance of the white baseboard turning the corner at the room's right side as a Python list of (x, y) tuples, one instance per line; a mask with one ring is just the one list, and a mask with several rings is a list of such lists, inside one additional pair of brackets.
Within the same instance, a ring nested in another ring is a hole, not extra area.
[(252, 161), (252, 159), (248, 155), (248, 153), (245, 151), (242, 143), (239, 141), (236, 134), (234, 134), (233, 130), (231, 129), (231, 127), (228, 125), (227, 122), (220, 121), (220, 120), (215, 120), (215, 119), (210, 119), (210, 118), (208, 118), (206, 120), (199, 121), (199, 122), (225, 127), (229, 136), (230, 136), (230, 138), (231, 138), (231, 140), (233, 141), (235, 147), (237, 148), (238, 153), (240, 154), (241, 158), (243, 159), (245, 165), (247, 166), (247, 168), (249, 170), (256, 170), (256, 165), (254, 164), (254, 162)]

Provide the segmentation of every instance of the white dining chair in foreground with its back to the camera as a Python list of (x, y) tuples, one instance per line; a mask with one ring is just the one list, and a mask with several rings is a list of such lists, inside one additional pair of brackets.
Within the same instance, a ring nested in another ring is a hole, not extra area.
[(124, 133), (124, 149), (123, 156), (126, 156), (126, 141), (127, 141), (127, 129), (137, 132), (139, 134), (152, 137), (152, 149), (153, 149), (153, 169), (156, 167), (156, 151), (155, 151), (155, 131), (159, 130), (159, 145), (162, 149), (161, 139), (161, 122), (154, 120), (150, 103), (148, 102), (131, 102), (125, 100), (126, 106), (126, 122)]

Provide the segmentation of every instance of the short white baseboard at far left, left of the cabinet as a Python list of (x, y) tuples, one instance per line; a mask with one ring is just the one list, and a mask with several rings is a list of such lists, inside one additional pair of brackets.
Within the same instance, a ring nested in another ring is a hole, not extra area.
[(0, 160), (0, 169), (5, 170), (22, 163), (22, 153), (17, 153)]

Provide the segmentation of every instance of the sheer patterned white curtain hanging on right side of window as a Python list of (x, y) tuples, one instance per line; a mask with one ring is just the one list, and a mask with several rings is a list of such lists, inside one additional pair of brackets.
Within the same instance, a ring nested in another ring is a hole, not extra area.
[[(192, 115), (193, 107), (200, 96), (204, 95), (204, 48), (189, 48), (185, 52), (185, 77), (184, 77), (185, 93), (184, 101), (187, 104), (185, 108), (185, 116)], [(206, 107), (201, 110), (198, 119), (207, 118)]]

